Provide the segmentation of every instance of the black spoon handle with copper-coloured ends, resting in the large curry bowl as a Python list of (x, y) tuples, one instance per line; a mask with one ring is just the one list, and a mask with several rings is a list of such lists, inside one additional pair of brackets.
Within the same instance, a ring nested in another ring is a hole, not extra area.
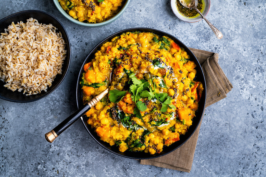
[(99, 95), (95, 96), (92, 100), (88, 103), (84, 104), (81, 108), (75, 111), (72, 115), (66, 118), (63, 122), (57, 125), (54, 129), (50, 132), (45, 134), (45, 139), (48, 142), (53, 142), (56, 137), (58, 137), (62, 132), (64, 132), (70, 125), (76, 122), (81, 116), (83, 116), (90, 108), (95, 106), (106, 94), (108, 93), (108, 89), (100, 93)]

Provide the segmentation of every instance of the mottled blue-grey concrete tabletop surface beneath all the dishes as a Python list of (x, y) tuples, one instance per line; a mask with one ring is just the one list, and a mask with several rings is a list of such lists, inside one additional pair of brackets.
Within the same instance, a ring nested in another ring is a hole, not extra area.
[[(217, 40), (204, 21), (185, 23), (169, 0), (132, 0), (115, 22), (88, 28), (68, 21), (52, 0), (5, 0), (0, 18), (22, 10), (46, 11), (66, 28), (72, 58), (63, 83), (33, 103), (0, 100), (0, 176), (266, 176), (266, 79), (264, 0), (211, 0), (207, 19), (223, 32)], [(90, 50), (121, 29), (150, 27), (187, 46), (219, 53), (234, 88), (205, 110), (190, 173), (122, 158), (99, 146), (81, 121), (49, 144), (44, 134), (76, 110), (77, 72)]]

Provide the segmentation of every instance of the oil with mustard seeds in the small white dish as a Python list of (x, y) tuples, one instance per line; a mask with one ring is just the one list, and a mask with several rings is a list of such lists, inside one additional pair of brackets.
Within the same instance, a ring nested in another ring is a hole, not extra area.
[[(200, 15), (195, 9), (189, 9), (189, 8), (182, 6), (179, 0), (176, 1), (176, 4), (177, 4), (178, 12), (180, 12), (180, 14), (182, 14), (186, 18), (195, 18)], [(206, 2), (204, 0), (198, 0), (197, 8), (198, 10), (200, 10), (201, 13), (205, 9), (205, 6), (206, 6)]]

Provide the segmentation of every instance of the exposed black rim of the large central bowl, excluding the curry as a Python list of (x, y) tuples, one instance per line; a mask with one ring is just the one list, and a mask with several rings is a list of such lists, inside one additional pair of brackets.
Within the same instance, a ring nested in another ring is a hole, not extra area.
[(76, 92), (76, 96), (77, 96), (77, 105), (78, 108), (80, 108), (83, 103), (82, 103), (82, 90), (81, 90), (81, 85), (80, 85), (80, 81), (81, 81), (81, 77), (82, 77), (82, 73), (83, 71), (83, 67), (86, 63), (90, 62), (93, 58), (94, 58), (94, 53), (97, 50), (100, 50), (102, 44), (104, 44), (107, 41), (110, 41), (113, 37), (115, 36), (119, 36), (122, 33), (125, 32), (134, 32), (134, 31), (140, 31), (140, 32), (153, 32), (156, 35), (159, 36), (168, 36), (171, 39), (174, 40), (175, 43), (177, 43), (180, 47), (183, 47), (185, 49), (185, 51), (189, 54), (190, 56), (190, 60), (194, 61), (196, 66), (196, 70), (197, 70), (197, 74), (195, 77), (195, 80), (202, 82), (203, 87), (205, 88), (203, 90), (202, 93), (202, 97), (201, 100), (199, 102), (199, 107), (198, 110), (196, 111), (196, 116), (193, 118), (192, 121), (192, 125), (189, 127), (188, 132), (185, 135), (181, 135), (180, 136), (180, 140), (177, 142), (174, 142), (172, 145), (170, 146), (165, 146), (163, 148), (163, 151), (160, 154), (149, 154), (149, 153), (144, 153), (144, 152), (132, 152), (132, 151), (125, 151), (125, 152), (120, 152), (118, 150), (117, 146), (110, 146), (109, 143), (104, 142), (102, 140), (100, 140), (100, 137), (97, 135), (97, 133), (95, 133), (94, 129), (91, 128), (91, 125), (87, 124), (87, 117), (86, 116), (82, 116), (81, 120), (82, 123), (84, 124), (86, 130), (89, 132), (90, 136), (92, 136), (92, 138), (99, 144), (101, 145), (103, 148), (109, 150), (110, 152), (120, 155), (122, 157), (126, 157), (126, 158), (131, 158), (131, 159), (151, 159), (151, 158), (156, 158), (156, 157), (161, 157), (163, 155), (166, 155), (174, 150), (176, 150), (177, 148), (179, 148), (182, 144), (184, 144), (189, 138), (190, 136), (195, 132), (196, 128), (198, 127), (201, 118), (203, 116), (203, 111), (205, 108), (205, 101), (206, 101), (206, 83), (205, 83), (205, 78), (201, 69), (201, 66), (197, 60), (197, 58), (194, 56), (194, 54), (191, 52), (191, 50), (189, 50), (188, 47), (186, 47), (185, 44), (183, 44), (180, 40), (178, 40), (176, 37), (165, 33), (163, 31), (159, 31), (157, 29), (152, 29), (152, 28), (129, 28), (129, 29), (124, 29), (122, 31), (119, 31), (117, 33), (114, 33), (113, 35), (107, 37), (106, 39), (102, 40), (98, 45), (96, 45), (96, 47), (94, 47), (92, 49), (92, 51), (88, 54), (88, 56), (86, 57), (85, 61), (82, 64), (82, 67), (80, 69), (79, 72), (79, 76), (78, 76), (78, 80), (77, 80), (77, 92)]

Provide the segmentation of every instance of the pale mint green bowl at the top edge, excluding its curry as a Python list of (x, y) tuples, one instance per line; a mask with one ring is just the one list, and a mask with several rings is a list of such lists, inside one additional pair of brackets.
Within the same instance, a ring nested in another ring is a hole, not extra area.
[(117, 20), (126, 10), (127, 6), (129, 5), (130, 0), (126, 0), (126, 2), (124, 3), (124, 6), (122, 7), (122, 9), (112, 18), (104, 21), (104, 22), (100, 22), (100, 23), (84, 23), (84, 22), (80, 22), (74, 18), (72, 18), (72, 16), (68, 15), (68, 13), (66, 13), (66, 11), (60, 6), (60, 3), (58, 2), (58, 0), (53, 0), (53, 2), (55, 3), (55, 6), (57, 7), (57, 9), (61, 12), (61, 14), (63, 14), (67, 19), (69, 19), (71, 22), (74, 22), (76, 24), (82, 25), (82, 26), (87, 26), (87, 27), (102, 27), (105, 26), (107, 24), (110, 24), (112, 22), (114, 22), (115, 20)]

